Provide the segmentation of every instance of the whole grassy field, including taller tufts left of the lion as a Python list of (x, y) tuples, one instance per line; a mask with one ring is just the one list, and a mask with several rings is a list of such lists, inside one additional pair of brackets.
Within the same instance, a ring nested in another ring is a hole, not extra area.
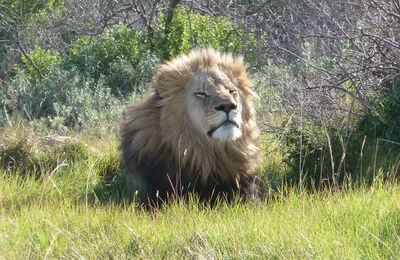
[(400, 257), (395, 183), (146, 212), (131, 201), (115, 141), (47, 147), (17, 133), (2, 143), (0, 258)]

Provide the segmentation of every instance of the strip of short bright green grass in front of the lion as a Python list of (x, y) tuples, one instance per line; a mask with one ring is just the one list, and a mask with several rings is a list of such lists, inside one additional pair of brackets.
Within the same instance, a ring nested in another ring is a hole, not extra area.
[(290, 193), (261, 205), (214, 209), (176, 203), (149, 213), (134, 203), (86, 203), (62, 192), (41, 196), (36, 182), (1, 180), (2, 257), (400, 256), (396, 185)]

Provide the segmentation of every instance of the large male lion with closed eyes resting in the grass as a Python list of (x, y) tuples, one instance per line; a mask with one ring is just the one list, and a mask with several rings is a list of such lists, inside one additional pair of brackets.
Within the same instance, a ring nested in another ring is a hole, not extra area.
[(121, 150), (144, 203), (197, 194), (260, 201), (259, 130), (243, 58), (213, 49), (161, 65), (155, 91), (124, 112)]

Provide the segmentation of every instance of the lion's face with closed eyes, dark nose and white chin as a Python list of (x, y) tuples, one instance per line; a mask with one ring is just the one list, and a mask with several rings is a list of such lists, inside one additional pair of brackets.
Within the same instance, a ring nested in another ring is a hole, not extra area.
[(186, 111), (194, 128), (205, 138), (231, 141), (242, 136), (241, 93), (221, 71), (201, 72), (193, 77)]

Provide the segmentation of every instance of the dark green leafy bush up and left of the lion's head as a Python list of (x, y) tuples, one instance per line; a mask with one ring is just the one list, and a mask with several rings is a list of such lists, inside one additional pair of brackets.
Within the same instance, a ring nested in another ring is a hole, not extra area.
[(65, 65), (76, 67), (88, 80), (104, 80), (114, 95), (126, 96), (146, 86), (159, 64), (142, 41), (142, 33), (117, 24), (98, 37), (79, 38), (65, 57)]

